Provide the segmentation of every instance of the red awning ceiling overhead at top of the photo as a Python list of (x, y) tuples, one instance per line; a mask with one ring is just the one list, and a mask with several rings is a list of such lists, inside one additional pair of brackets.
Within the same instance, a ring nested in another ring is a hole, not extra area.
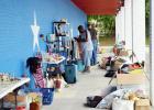
[(88, 15), (113, 15), (123, 0), (72, 0)]

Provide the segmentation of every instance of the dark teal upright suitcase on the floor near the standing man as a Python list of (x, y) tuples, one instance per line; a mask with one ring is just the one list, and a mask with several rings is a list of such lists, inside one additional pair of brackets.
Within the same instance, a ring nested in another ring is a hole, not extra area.
[(65, 81), (67, 84), (75, 84), (77, 81), (77, 65), (68, 64), (65, 65)]

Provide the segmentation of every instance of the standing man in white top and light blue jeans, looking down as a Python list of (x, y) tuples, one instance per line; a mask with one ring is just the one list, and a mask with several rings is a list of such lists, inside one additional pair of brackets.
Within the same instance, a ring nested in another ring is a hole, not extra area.
[(91, 36), (88, 30), (85, 30), (82, 25), (78, 26), (79, 37), (78, 41), (81, 42), (82, 61), (85, 64), (84, 72), (90, 72), (90, 59), (92, 56), (94, 45), (91, 42)]

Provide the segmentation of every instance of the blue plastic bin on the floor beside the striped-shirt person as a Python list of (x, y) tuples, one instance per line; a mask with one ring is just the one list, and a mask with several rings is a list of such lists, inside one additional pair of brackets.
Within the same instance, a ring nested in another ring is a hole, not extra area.
[(54, 98), (54, 88), (41, 88), (42, 103), (51, 105)]

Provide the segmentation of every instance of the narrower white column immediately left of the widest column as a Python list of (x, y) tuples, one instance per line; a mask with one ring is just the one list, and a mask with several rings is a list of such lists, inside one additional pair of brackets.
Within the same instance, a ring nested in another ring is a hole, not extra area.
[(125, 0), (125, 47), (132, 50), (132, 0)]

